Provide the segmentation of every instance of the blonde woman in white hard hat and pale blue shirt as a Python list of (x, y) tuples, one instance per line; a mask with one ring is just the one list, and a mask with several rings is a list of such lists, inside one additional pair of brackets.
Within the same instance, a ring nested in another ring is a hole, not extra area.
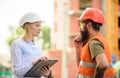
[[(40, 17), (34, 13), (27, 13), (20, 20), (20, 27), (25, 33), (11, 45), (12, 78), (23, 78), (38, 60), (47, 61), (47, 57), (42, 54), (41, 47), (34, 40), (34, 37), (40, 34), (41, 23)], [(49, 66), (43, 67), (42, 72), (43, 75), (40, 78), (51, 78)]]

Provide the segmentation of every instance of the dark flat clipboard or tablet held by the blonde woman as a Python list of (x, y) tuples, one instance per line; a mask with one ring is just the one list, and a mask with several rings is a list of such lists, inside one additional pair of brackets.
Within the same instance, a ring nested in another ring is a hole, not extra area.
[(43, 75), (41, 68), (54, 65), (58, 60), (39, 60), (25, 75), (24, 77), (41, 77)]

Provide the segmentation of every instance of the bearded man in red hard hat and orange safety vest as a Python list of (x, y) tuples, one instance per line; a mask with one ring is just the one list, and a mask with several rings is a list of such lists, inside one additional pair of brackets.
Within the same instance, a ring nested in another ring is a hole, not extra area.
[(102, 11), (86, 8), (78, 18), (80, 33), (74, 39), (78, 65), (77, 78), (114, 78), (109, 45), (101, 34)]

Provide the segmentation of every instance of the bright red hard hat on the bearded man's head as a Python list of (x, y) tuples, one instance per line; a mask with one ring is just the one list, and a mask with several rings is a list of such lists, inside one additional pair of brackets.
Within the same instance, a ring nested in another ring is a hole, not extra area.
[(104, 15), (102, 11), (97, 8), (86, 8), (80, 18), (78, 18), (79, 21), (86, 19), (91, 19), (94, 22), (104, 24)]

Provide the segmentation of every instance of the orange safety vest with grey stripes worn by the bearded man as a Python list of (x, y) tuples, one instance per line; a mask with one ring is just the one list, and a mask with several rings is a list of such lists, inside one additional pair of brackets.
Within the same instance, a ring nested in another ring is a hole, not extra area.
[(107, 56), (107, 60), (109, 62), (109, 66), (104, 73), (103, 78), (114, 78), (114, 69), (112, 67), (112, 58), (110, 48), (108, 46), (107, 41), (101, 34), (97, 34), (92, 37), (82, 48), (80, 53), (80, 64), (78, 69), (78, 77), (77, 78), (93, 78), (96, 68), (96, 61), (91, 58), (91, 54), (89, 52), (89, 42), (93, 39), (98, 39), (103, 45), (105, 54)]

